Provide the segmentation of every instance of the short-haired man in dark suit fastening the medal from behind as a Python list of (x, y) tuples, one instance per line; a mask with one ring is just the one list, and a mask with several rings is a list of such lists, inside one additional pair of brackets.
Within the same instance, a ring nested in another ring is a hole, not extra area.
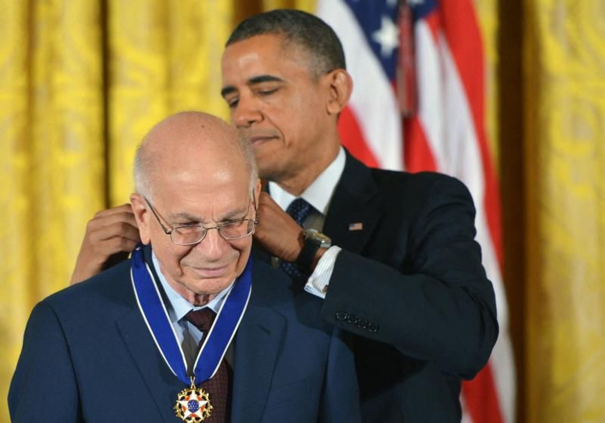
[[(338, 115), (353, 84), (338, 37), (315, 16), (275, 10), (242, 22), (222, 73), (231, 123), (269, 181), (258, 256), (302, 280), (324, 299), (323, 320), (351, 334), (364, 421), (460, 421), (460, 380), (485, 365), (498, 334), (466, 187), (369, 169), (342, 149)], [(127, 208), (93, 219), (74, 280), (119, 251), (112, 245), (134, 242), (99, 230)]]

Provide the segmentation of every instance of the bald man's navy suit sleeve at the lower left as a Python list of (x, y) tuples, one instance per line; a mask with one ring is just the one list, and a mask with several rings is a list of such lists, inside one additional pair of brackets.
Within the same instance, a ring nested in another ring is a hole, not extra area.
[(8, 392), (15, 423), (82, 422), (76, 376), (57, 315), (46, 302), (31, 312)]

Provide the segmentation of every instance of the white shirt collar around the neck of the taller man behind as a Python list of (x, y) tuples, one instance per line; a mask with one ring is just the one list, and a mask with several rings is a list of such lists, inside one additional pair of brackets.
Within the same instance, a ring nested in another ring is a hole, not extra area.
[[(336, 189), (336, 184), (338, 184), (338, 181), (341, 178), (346, 158), (347, 156), (345, 155), (344, 149), (340, 147), (338, 155), (334, 161), (330, 163), (330, 166), (326, 167), (315, 181), (313, 181), (313, 183), (300, 195), (300, 198), (307, 201), (324, 216), (327, 215), (328, 207), (330, 207), (330, 199), (332, 199), (332, 193)], [(282, 189), (275, 182), (269, 182), (269, 193), (283, 210), (286, 210), (290, 203), (296, 199), (296, 196), (293, 196)]]

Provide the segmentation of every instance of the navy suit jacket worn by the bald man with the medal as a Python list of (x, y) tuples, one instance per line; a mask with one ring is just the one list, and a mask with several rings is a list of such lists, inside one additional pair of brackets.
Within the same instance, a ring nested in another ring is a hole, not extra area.
[[(149, 253), (146, 251), (148, 262)], [(172, 374), (136, 305), (129, 261), (40, 302), (8, 395), (13, 422), (177, 422)], [(233, 422), (359, 421), (355, 364), (321, 299), (253, 263), (234, 340)]]

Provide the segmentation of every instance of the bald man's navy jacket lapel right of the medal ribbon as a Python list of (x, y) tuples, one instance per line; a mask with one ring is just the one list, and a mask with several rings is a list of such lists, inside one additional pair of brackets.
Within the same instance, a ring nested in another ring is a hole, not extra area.
[(285, 330), (283, 316), (250, 299), (235, 337), (232, 421), (261, 421)]

